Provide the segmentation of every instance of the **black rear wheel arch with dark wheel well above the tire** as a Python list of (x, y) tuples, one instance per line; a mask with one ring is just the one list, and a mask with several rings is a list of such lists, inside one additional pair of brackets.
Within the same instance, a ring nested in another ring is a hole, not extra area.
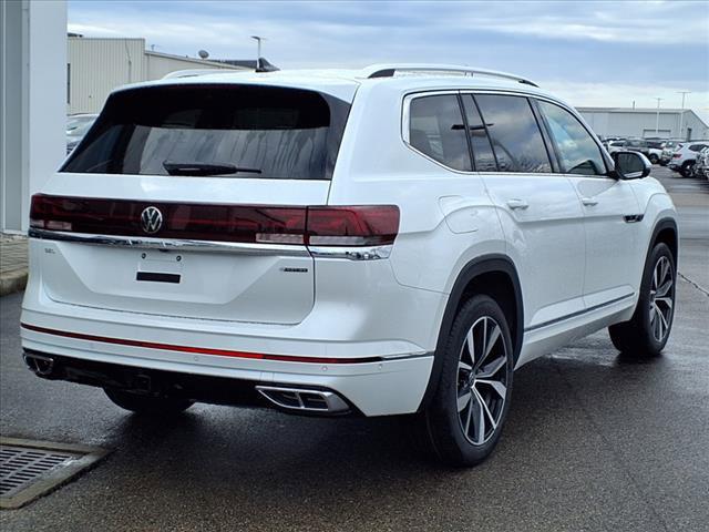
[(486, 294), (495, 298), (503, 307), (502, 310), (507, 317), (511, 329), (513, 354), (516, 362), (524, 336), (524, 305), (517, 269), (506, 255), (490, 254), (476, 257), (463, 266), (449, 295), (439, 329), (433, 367), (431, 368), (429, 383), (419, 410), (425, 408), (435, 393), (443, 366), (445, 340), (453, 327), (458, 310), (473, 295), (477, 294)]

